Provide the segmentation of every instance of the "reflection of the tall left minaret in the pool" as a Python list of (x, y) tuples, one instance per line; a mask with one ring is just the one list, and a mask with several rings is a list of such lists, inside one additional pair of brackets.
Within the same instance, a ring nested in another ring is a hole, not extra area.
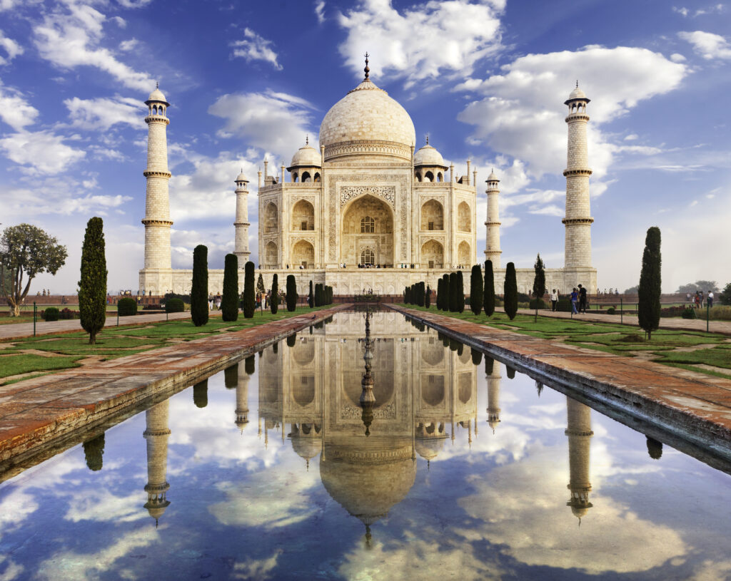
[(165, 480), (167, 473), (167, 438), (170, 430), (167, 428), (167, 410), (169, 401), (161, 401), (145, 412), (146, 429), (143, 436), (147, 440), (147, 502), (145, 508), (150, 516), (157, 520), (165, 512), (170, 501), (165, 493), (170, 485)]

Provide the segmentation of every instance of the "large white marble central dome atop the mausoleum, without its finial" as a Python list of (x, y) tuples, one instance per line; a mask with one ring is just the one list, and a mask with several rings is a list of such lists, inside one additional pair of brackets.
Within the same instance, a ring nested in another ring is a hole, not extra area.
[(354, 156), (411, 161), (416, 131), (406, 109), (366, 78), (327, 112), (319, 142), (325, 161)]

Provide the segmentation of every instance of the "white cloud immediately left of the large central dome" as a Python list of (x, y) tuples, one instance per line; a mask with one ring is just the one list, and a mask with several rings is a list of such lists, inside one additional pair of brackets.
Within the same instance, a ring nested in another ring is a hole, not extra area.
[(312, 109), (299, 97), (267, 91), (221, 96), (208, 112), (226, 120), (219, 136), (243, 137), (248, 145), (286, 155), (287, 163), (295, 153), (293, 148), (303, 144), (306, 134), (317, 134), (308, 130)]

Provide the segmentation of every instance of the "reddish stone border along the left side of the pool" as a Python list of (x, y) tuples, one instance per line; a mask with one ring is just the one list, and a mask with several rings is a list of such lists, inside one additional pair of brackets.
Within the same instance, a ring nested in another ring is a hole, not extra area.
[[(242, 331), (194, 339), (0, 385), (0, 482), (25, 469), (34, 456), (47, 458), (80, 431), (129, 417), (161, 393), (169, 396), (202, 377), (225, 369), (264, 347), (320, 323), (351, 305), (295, 315)], [(110, 421), (111, 420), (111, 421)], [(26, 465), (27, 464), (27, 465)]]

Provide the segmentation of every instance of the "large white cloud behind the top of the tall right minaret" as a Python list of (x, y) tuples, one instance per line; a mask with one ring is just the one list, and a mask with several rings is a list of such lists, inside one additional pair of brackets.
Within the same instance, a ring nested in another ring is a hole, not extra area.
[[(472, 139), (525, 162), (534, 179), (564, 169), (567, 128), (562, 103), (577, 77), (588, 96), (596, 97), (588, 106), (588, 149), (594, 176), (602, 177), (613, 155), (628, 151), (607, 142), (602, 123), (625, 115), (639, 101), (672, 91), (688, 71), (643, 48), (595, 46), (526, 55), (502, 68), (502, 74), (458, 85), (457, 91), (484, 95), (458, 119), (475, 126)], [(622, 82), (616, 82), (618, 78)]]

